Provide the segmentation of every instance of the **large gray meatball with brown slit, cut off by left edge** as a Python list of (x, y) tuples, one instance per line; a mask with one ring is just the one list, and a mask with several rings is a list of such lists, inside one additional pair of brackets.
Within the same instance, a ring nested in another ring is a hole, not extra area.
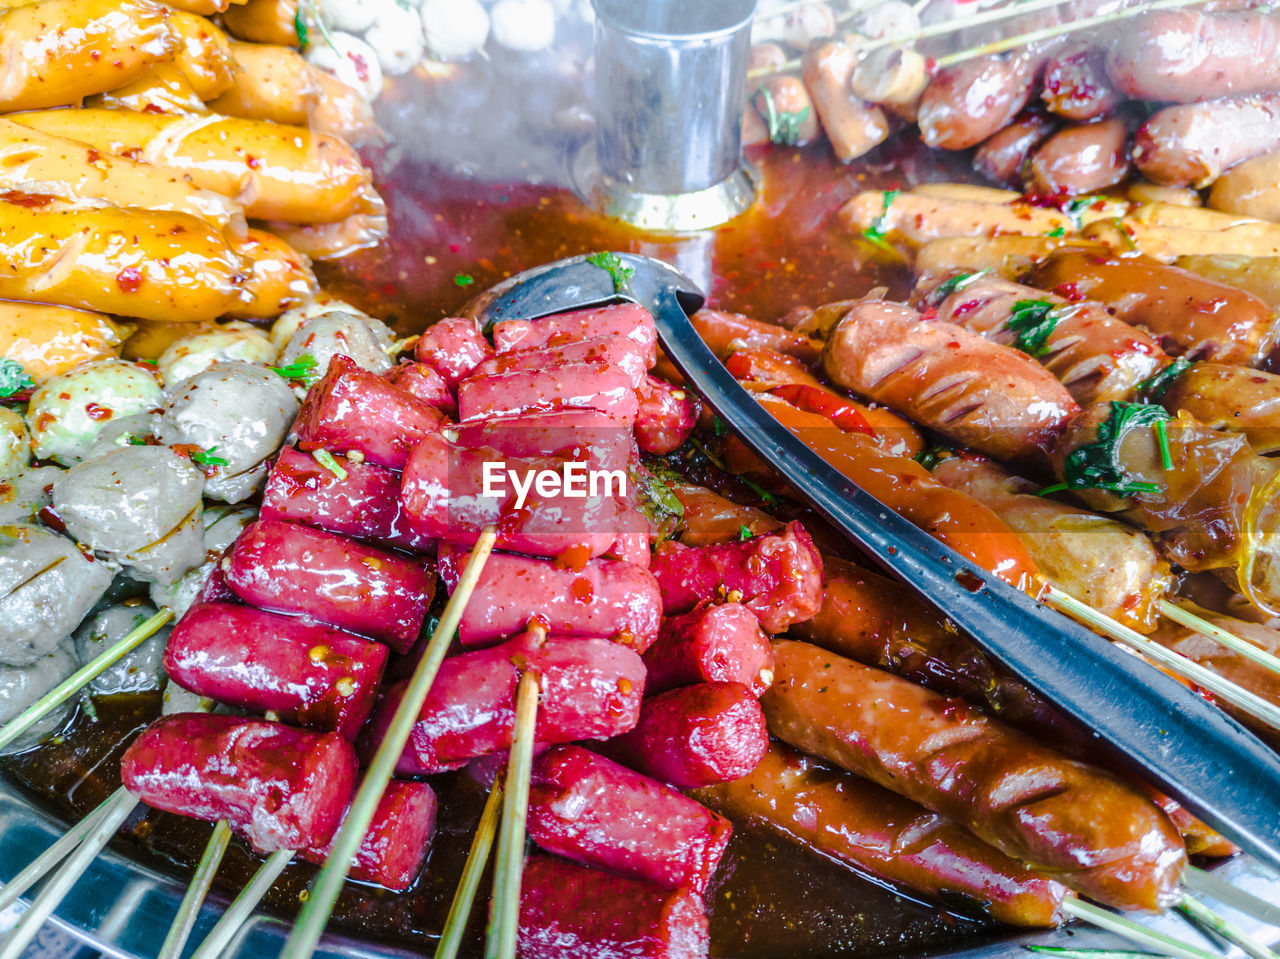
[(106, 592), (114, 571), (44, 526), (0, 526), (0, 662), (29, 666), (52, 652)]

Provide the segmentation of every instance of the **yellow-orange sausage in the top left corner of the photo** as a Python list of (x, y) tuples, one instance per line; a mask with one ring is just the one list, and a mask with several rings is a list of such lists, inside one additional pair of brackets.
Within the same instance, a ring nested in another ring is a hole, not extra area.
[(42, 0), (0, 13), (0, 111), (68, 106), (172, 59), (182, 36), (152, 0)]

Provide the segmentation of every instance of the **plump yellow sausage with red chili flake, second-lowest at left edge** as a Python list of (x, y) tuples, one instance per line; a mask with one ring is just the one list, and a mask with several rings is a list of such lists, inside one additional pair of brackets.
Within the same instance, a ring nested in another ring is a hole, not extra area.
[(137, 316), (209, 320), (242, 302), (248, 274), (223, 234), (173, 213), (0, 202), (0, 297)]

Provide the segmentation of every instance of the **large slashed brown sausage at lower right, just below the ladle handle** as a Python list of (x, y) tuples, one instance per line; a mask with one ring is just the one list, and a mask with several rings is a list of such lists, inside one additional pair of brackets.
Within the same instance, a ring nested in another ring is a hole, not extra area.
[(1100, 903), (1178, 900), (1187, 850), (1121, 781), (1038, 745), (963, 700), (828, 653), (774, 643), (769, 731), (964, 825)]

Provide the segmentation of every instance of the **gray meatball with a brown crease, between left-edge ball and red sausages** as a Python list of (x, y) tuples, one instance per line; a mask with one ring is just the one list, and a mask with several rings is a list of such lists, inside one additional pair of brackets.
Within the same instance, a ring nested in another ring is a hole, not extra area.
[(173, 583), (205, 558), (204, 474), (168, 447), (129, 446), (82, 462), (54, 483), (67, 531), (143, 579)]

